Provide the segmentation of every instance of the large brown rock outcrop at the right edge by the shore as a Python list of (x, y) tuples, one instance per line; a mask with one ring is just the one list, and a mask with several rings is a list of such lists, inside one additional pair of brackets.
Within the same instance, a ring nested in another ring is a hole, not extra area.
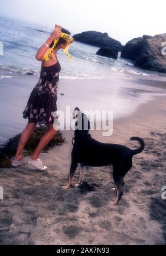
[(134, 38), (123, 47), (121, 57), (134, 61), (134, 66), (166, 73), (166, 55), (162, 54), (163, 42), (166, 42), (166, 33)]

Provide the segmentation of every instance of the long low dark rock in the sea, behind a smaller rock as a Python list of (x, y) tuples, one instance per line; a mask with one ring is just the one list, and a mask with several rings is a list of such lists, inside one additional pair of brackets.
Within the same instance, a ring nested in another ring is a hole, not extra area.
[(108, 37), (107, 33), (97, 31), (86, 31), (73, 36), (75, 41), (87, 43), (91, 46), (98, 46), (103, 48), (110, 48), (113, 51), (122, 51), (122, 44), (115, 39)]

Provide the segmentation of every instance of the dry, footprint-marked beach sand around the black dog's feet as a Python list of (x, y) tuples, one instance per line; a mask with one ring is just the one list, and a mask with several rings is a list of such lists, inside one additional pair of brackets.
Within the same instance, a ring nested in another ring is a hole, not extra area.
[[(165, 244), (166, 200), (166, 98), (155, 97), (131, 116), (113, 122), (111, 137), (92, 131), (93, 138), (105, 143), (129, 142), (133, 135), (144, 139), (146, 147), (134, 156), (127, 173), (124, 195), (118, 205), (112, 191), (112, 168), (89, 167), (88, 183), (95, 192), (81, 194), (79, 188), (64, 191), (74, 132), (62, 131), (66, 142), (42, 153), (48, 172), (28, 167), (3, 168), (0, 172), (4, 199), (0, 202), (1, 244)], [(72, 184), (79, 178), (79, 168)]]

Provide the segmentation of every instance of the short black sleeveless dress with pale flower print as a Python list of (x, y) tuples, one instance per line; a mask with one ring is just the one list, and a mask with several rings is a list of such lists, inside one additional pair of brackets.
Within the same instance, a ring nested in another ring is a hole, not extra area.
[(29, 123), (53, 124), (53, 113), (57, 110), (57, 89), (59, 83), (60, 64), (56, 62), (49, 67), (41, 66), (39, 81), (30, 93), (23, 118)]

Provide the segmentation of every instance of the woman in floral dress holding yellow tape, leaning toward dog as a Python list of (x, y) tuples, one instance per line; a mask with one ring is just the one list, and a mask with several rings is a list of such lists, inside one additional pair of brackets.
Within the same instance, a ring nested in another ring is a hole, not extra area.
[(67, 42), (63, 38), (59, 38), (58, 44), (46, 63), (44, 62), (44, 56), (53, 46), (54, 39), (60, 37), (61, 32), (70, 34), (69, 31), (66, 31), (66, 29), (63, 28), (61, 31), (54, 29), (51, 36), (46, 40), (45, 44), (38, 49), (35, 56), (38, 61), (42, 61), (40, 77), (38, 83), (30, 93), (27, 106), (23, 111), (23, 118), (28, 118), (28, 123), (20, 136), (17, 153), (12, 160), (12, 166), (14, 167), (26, 164), (26, 162), (22, 159), (23, 148), (30, 135), (34, 132), (37, 123), (45, 123), (49, 126), (48, 132), (46, 132), (40, 139), (37, 148), (33, 152), (32, 156), (28, 159), (28, 164), (40, 170), (47, 169), (47, 167), (43, 165), (39, 159), (39, 154), (54, 137), (54, 135), (58, 133), (58, 130), (55, 130), (53, 127), (53, 123), (55, 121), (53, 113), (57, 110), (57, 88), (59, 82), (59, 72), (61, 69), (57, 59), (57, 52), (59, 49), (65, 49)]

